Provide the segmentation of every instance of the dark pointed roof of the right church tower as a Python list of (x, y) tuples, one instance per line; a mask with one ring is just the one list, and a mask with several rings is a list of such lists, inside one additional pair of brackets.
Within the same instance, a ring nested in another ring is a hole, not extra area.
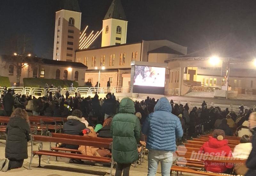
[(113, 0), (107, 14), (105, 15), (105, 18), (103, 20), (107, 20), (110, 18), (118, 19), (118, 20), (125, 20), (126, 16), (124, 13), (124, 8), (121, 4), (121, 0)]

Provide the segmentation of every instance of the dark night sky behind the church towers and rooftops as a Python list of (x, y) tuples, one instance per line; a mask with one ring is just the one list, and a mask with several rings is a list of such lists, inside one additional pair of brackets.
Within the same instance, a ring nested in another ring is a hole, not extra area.
[[(60, 0), (0, 0), (0, 54), (11, 54), (13, 42), (26, 35), (28, 50), (52, 59), (55, 12)], [(121, 0), (128, 19), (127, 43), (167, 39), (203, 48), (229, 33), (255, 43), (255, 0)], [(84, 28), (102, 28), (112, 0), (78, 0)], [(99, 47), (101, 36), (94, 43)]]

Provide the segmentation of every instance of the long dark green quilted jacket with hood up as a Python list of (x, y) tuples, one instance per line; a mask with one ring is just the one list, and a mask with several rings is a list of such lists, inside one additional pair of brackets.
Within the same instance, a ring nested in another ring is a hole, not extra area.
[(114, 161), (130, 164), (138, 159), (138, 145), (140, 142), (140, 120), (134, 115), (134, 103), (130, 98), (120, 102), (119, 113), (112, 120), (113, 134), (112, 156)]

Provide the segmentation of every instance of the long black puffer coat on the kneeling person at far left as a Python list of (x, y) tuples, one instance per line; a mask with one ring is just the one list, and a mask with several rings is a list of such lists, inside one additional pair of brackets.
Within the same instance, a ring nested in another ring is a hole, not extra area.
[(25, 119), (11, 117), (6, 127), (5, 158), (27, 159), (29, 134), (30, 127)]

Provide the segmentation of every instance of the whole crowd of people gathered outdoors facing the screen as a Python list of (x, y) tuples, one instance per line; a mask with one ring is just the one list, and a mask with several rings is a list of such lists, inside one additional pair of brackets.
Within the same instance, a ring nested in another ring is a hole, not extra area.
[[(252, 108), (244, 109), (244, 106), (241, 106), (240, 112), (236, 114), (228, 108), (225, 110), (221, 110), (220, 107), (208, 108), (205, 101), (201, 107), (190, 108), (188, 103), (179, 105), (166, 98), (155, 100), (147, 97), (140, 102), (124, 98), (119, 102), (114, 93), (108, 93), (104, 99), (99, 98), (97, 94), (93, 98), (84, 98), (79, 92), (75, 97), (71, 97), (69, 92), (61, 95), (58, 89), (55, 92), (49, 91), (47, 96), (39, 98), (17, 95), (12, 90), (7, 90), (1, 95), (1, 100), (3, 105), (3, 109), (0, 110), (1, 115), (11, 116), (6, 129), (8, 145), (6, 145), (5, 157), (9, 160), (5, 162), (8, 166), (3, 164), (2, 170), (5, 171), (20, 167), (23, 160), (28, 158), (27, 141), (30, 129), (27, 122), (28, 116), (34, 115), (67, 117), (67, 122), (63, 125), (63, 133), (66, 134), (112, 138), (112, 151), (90, 146), (65, 144), (57, 146), (78, 149), (84, 155), (108, 157), (112, 154), (117, 162), (116, 176), (121, 176), (122, 172), (124, 176), (129, 175), (131, 164), (137, 161), (141, 147), (145, 146), (148, 149), (148, 176), (156, 174), (159, 162), (161, 162), (162, 175), (170, 175), (176, 139), (181, 138), (184, 132), (187, 132), (188, 136), (196, 137), (202, 132), (203, 126), (204, 130), (215, 130), (200, 151), (226, 151), (228, 154), (232, 151), (225, 136), (239, 136), (241, 143), (236, 146), (233, 155), (247, 159), (247, 162), (245, 168), (235, 166), (234, 169), (237, 173), (246, 171), (246, 175), (253, 175), (256, 172), (256, 162), (254, 162), (256, 139), (255, 135), (253, 136), (256, 112)], [(91, 117), (98, 118), (96, 124)], [(17, 127), (19, 129), (16, 129)], [(13, 132), (19, 135), (14, 138)], [(146, 142), (144, 135), (147, 136)], [(14, 143), (15, 145), (12, 145)], [(241, 153), (245, 146), (247, 146), (245, 155), (241, 156), (239, 152)], [(15, 153), (15, 148), (20, 148), (20, 151), (26, 154), (21, 155), (17, 151)], [(70, 159), (70, 162), (82, 163), (81, 160), (76, 159)], [(95, 164), (100, 165), (100, 163)], [(205, 161), (205, 170), (211, 172), (227, 173), (233, 167), (233, 165), (219, 167)]]

